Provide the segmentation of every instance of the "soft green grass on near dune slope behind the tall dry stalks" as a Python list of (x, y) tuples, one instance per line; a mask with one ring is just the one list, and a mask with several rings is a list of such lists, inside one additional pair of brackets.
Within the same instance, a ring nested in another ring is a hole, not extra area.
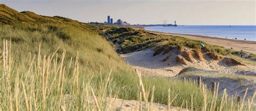
[[(116, 53), (114, 53), (114, 50), (109, 42), (106, 42), (101, 36), (95, 33), (86, 32), (82, 29), (74, 28), (72, 26), (59, 25), (41, 25), (29, 27), (20, 26), (15, 28), (12, 26), (1, 26), (0, 32), (0, 43), (2, 44), (0, 47), (1, 49), (3, 49), (4, 39), (11, 41), (11, 55), (15, 61), (15, 66), (12, 70), (13, 72), (28, 71), (29, 61), (32, 60), (33, 55), (39, 54), (39, 45), (41, 45), (40, 54), (42, 57), (52, 55), (53, 52), (55, 52), (55, 50), (59, 47), (57, 51), (58, 56), (56, 58), (56, 61), (61, 61), (61, 54), (63, 53), (63, 50), (66, 50), (63, 62), (63, 64), (66, 67), (69, 66), (71, 57), (74, 61), (78, 53), (78, 63), (80, 65), (79, 70), (81, 70), (79, 71), (79, 82), (81, 82), (79, 84), (80, 86), (82, 86), (82, 82), (87, 83), (86, 80), (88, 79), (88, 77), (93, 75), (92, 84), (95, 84), (95, 87), (97, 89), (97, 87), (101, 83), (100, 78), (102, 77), (102, 79), (104, 79), (107, 73), (110, 71), (110, 69), (113, 69), (111, 78), (111, 85), (114, 85), (111, 88), (113, 90), (113, 95), (118, 95), (118, 98), (127, 100), (138, 99), (138, 77), (136, 73), (132, 68), (130, 68), (129, 65), (125, 64), (122, 60), (120, 60), (119, 56)], [(71, 92), (73, 91), (73, 86), (69, 83), (69, 78), (73, 75), (72, 69), (72, 67), (70, 70), (66, 69), (65, 73), (65, 81), (67, 83), (66, 85), (64, 85), (63, 91), (65, 91), (64, 93), (66, 94), (72, 94)], [(31, 75), (33, 75), (32, 72)], [(3, 75), (1, 76), (1, 78), (2, 77)], [(11, 80), (15, 80), (16, 75), (12, 74), (11, 78)], [(50, 80), (52, 80), (52, 78), (54, 77), (49, 76)], [(20, 80), (24, 80), (24, 77), (21, 77)], [(170, 87), (183, 87), (172, 88), (171, 91), (181, 93), (179, 99), (177, 99), (177, 101), (174, 101), (173, 106), (181, 105), (182, 99), (189, 100), (189, 98), (183, 97), (182, 95), (183, 93), (185, 95), (192, 95), (191, 93), (185, 91), (187, 90), (185, 87), (193, 86), (194, 88), (190, 88), (191, 92), (197, 93), (198, 97), (200, 97), (200, 95), (202, 94), (199, 93), (199, 90), (197, 90), (195, 84), (187, 83), (182, 84), (182, 86), (180, 86), (181, 82), (179, 80), (172, 81), (165, 78), (152, 77), (145, 78), (143, 80), (148, 87), (156, 85), (155, 102), (159, 103), (167, 103), (166, 92)], [(11, 83), (14, 84), (14, 81)], [(40, 88), (40, 83), (34, 84), (38, 86), (38, 88)], [(163, 84), (170, 84), (170, 86)], [(1, 90), (1, 92), (4, 91)], [(195, 107), (200, 107), (202, 105), (200, 100), (200, 98), (195, 99), (195, 103), (198, 103), (195, 105)]]

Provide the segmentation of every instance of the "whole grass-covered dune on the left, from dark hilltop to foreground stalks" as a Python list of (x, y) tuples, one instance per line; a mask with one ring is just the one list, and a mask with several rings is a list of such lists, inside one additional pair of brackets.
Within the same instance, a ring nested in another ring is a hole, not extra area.
[[(0, 5), (0, 23), (2, 110), (110, 110), (107, 98), (152, 100), (197, 110), (251, 109), (251, 104), (232, 104), (233, 99), (214, 95), (194, 82), (140, 77), (99, 35), (98, 26), (19, 13), (6, 5)], [(158, 36), (139, 32), (147, 36), (144, 47)], [(143, 45), (138, 41), (133, 42)]]

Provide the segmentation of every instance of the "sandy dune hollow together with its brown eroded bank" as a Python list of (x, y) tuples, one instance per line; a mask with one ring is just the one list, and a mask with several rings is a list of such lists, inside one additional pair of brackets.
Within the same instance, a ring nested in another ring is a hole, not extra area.
[(146, 76), (173, 77), (188, 67), (212, 70), (219, 73), (232, 73), (234, 75), (256, 76), (256, 66), (242, 64), (230, 57), (211, 53), (199, 54), (199, 56), (194, 51), (189, 53), (191, 52), (190, 49), (184, 49), (188, 53), (182, 51), (178, 53), (177, 50), (174, 49), (174, 51), (169, 53), (163, 52), (156, 55), (154, 50), (147, 49), (121, 56)]

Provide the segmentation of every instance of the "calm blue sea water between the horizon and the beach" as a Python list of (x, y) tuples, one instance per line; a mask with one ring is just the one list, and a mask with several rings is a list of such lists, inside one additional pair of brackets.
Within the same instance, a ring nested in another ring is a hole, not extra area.
[(178, 27), (145, 27), (149, 31), (178, 34), (216, 36), (219, 38), (256, 41), (256, 26), (178, 26)]

